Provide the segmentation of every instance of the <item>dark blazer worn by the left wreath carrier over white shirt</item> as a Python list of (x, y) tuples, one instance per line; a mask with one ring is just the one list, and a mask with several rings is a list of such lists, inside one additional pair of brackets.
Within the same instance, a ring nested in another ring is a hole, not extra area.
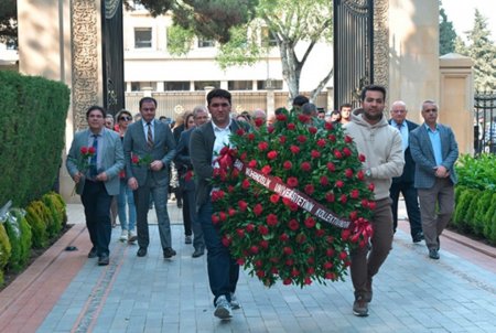
[[(248, 129), (249, 125), (241, 125), (231, 120), (230, 132), (236, 132), (240, 127)], [(195, 128), (191, 133), (190, 158), (195, 171), (196, 206), (208, 202), (212, 191), (211, 179), (214, 173), (212, 158), (214, 154), (215, 135), (212, 120)]]

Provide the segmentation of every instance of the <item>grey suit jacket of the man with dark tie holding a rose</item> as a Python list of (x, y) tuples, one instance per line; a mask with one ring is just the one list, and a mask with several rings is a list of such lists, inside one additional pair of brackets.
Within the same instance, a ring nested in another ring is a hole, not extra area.
[[(175, 155), (175, 140), (171, 128), (162, 121), (153, 120), (154, 137), (153, 148), (147, 144), (143, 130), (143, 120), (129, 125), (123, 139), (123, 153), (126, 160), (126, 178), (136, 178), (139, 186), (147, 182), (147, 176), (152, 175), (159, 184), (169, 184), (169, 164)], [(147, 165), (136, 165), (131, 162), (131, 154), (140, 158), (150, 155), (152, 160), (161, 160), (164, 166), (160, 171), (149, 173)]]

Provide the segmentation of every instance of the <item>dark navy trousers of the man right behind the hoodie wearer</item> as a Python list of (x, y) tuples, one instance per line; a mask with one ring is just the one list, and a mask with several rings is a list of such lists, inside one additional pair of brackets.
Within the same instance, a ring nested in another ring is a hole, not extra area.
[(408, 222), (410, 223), (410, 235), (414, 237), (422, 232), (422, 223), (420, 222), (420, 208), (417, 189), (412, 182), (397, 182), (392, 183), (389, 189), (389, 196), (392, 200), (392, 229), (396, 233), (398, 227), (398, 200), (399, 194), (405, 197), (405, 204), (407, 206)]

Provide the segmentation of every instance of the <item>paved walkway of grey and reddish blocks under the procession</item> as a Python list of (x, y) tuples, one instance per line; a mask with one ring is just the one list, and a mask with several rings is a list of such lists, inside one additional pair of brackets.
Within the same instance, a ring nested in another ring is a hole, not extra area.
[[(496, 250), (446, 233), (441, 259), (412, 244), (400, 222), (393, 249), (374, 280), (368, 318), (352, 313), (345, 282), (270, 289), (241, 273), (241, 309), (231, 321), (213, 316), (206, 256), (193, 259), (184, 244), (181, 212), (169, 203), (173, 247), (164, 260), (157, 225), (149, 254), (112, 232), (111, 262), (87, 259), (89, 240), (80, 205), (69, 205), (75, 226), (0, 292), (0, 332), (496, 332)], [(405, 211), (400, 212), (405, 217)], [(150, 212), (151, 222), (155, 221)], [(77, 251), (66, 251), (74, 245)]]

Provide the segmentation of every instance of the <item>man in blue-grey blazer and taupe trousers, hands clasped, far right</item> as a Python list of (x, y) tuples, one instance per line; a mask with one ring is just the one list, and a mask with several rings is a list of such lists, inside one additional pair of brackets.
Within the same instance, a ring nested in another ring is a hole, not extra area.
[(410, 133), (411, 157), (416, 162), (414, 185), (419, 192), (420, 214), (429, 257), (439, 259), (439, 236), (450, 222), (454, 210), (454, 163), (459, 146), (453, 130), (438, 123), (438, 105), (422, 104), (424, 123)]

